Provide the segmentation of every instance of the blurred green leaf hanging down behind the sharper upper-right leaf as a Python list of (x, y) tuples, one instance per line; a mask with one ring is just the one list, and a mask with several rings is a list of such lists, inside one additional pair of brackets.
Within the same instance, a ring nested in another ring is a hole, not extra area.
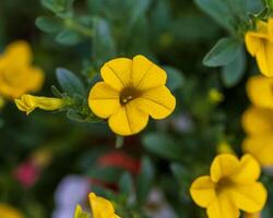
[(235, 56), (235, 59), (222, 69), (222, 80), (226, 87), (232, 87), (240, 82), (246, 71), (246, 53), (244, 48)]

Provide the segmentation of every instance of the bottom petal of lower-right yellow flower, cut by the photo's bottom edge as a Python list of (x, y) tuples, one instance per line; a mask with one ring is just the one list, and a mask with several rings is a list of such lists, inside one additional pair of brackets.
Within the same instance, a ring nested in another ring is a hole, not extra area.
[(217, 196), (217, 199), (207, 207), (206, 214), (210, 218), (238, 218), (240, 216), (239, 209), (225, 194)]

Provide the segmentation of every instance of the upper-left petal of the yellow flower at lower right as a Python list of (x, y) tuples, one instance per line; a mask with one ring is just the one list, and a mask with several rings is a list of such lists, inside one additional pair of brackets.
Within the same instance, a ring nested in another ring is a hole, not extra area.
[(224, 177), (229, 177), (239, 169), (240, 162), (229, 154), (218, 155), (211, 166), (211, 178), (213, 182), (218, 182)]

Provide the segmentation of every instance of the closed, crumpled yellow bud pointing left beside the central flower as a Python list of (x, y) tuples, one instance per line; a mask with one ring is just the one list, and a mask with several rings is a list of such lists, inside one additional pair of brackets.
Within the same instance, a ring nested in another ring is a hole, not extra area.
[(43, 110), (58, 110), (63, 107), (64, 102), (61, 98), (36, 97), (32, 95), (23, 95), (15, 99), (15, 104), (21, 111), (29, 114), (36, 108)]

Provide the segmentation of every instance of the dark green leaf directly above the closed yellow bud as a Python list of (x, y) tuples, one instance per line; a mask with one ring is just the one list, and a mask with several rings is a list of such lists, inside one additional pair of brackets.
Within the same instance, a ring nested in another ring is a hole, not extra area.
[(57, 80), (68, 96), (73, 97), (74, 94), (85, 96), (85, 87), (78, 76), (69, 70), (59, 68), (56, 71)]

